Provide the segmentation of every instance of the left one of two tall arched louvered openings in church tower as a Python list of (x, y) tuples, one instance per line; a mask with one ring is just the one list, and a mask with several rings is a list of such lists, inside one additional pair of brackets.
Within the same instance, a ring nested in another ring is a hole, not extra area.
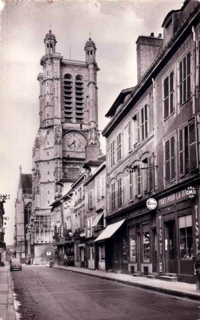
[(72, 76), (64, 75), (63, 83), (63, 99), (64, 99), (64, 118), (66, 121), (72, 120)]

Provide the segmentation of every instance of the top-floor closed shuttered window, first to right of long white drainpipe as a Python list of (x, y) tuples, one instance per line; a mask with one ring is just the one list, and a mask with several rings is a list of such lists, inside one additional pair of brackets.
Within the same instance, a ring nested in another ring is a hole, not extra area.
[(164, 79), (164, 120), (167, 119), (174, 112), (174, 72), (172, 71)]

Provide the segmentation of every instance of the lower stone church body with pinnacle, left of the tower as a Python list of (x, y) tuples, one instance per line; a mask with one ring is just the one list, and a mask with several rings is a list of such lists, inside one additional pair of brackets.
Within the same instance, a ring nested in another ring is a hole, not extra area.
[(14, 245), (16, 258), (25, 263), (25, 258), (30, 255), (28, 241), (28, 225), (32, 210), (32, 174), (21, 173), (18, 185), (18, 193), (15, 201), (15, 232)]

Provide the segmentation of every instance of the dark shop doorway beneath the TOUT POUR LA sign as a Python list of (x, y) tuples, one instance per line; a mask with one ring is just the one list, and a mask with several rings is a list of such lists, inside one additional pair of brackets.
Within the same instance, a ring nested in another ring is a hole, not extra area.
[(164, 252), (166, 273), (177, 273), (177, 246), (175, 220), (164, 223)]

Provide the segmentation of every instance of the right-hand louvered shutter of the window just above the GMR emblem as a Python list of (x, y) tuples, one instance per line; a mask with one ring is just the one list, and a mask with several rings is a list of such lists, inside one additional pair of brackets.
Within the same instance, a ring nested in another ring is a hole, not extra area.
[(197, 163), (197, 139), (196, 139), (196, 123), (191, 121), (188, 124), (188, 135), (189, 135), (189, 165), (190, 170), (194, 170), (198, 167)]

